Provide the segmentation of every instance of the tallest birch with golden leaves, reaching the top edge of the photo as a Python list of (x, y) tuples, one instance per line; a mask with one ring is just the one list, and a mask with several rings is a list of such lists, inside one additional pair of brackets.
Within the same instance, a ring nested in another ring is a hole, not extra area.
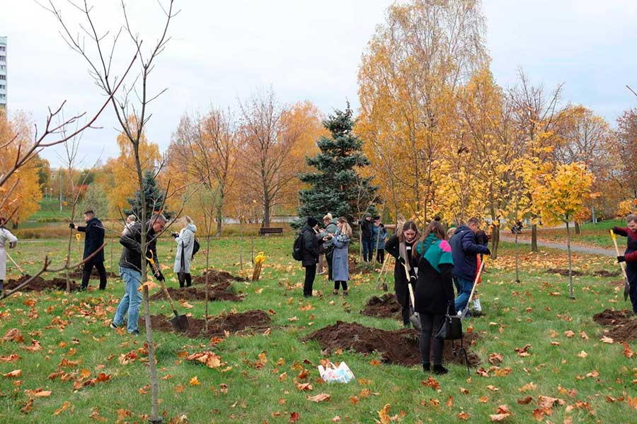
[[(412, 0), (389, 7), (363, 55), (358, 131), (372, 172), (394, 187), (408, 215), (425, 222), (440, 151), (454, 128), (453, 96), (486, 62), (483, 38), (479, 1)], [(381, 156), (401, 158), (401, 166), (374, 160)]]

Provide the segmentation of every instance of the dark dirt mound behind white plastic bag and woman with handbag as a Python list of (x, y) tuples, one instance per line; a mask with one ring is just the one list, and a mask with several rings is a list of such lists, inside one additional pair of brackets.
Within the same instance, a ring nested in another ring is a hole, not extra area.
[[(359, 353), (377, 351), (387, 363), (399, 365), (418, 365), (422, 363), (418, 348), (418, 331), (403, 329), (386, 331), (362, 326), (357, 322), (337, 321), (336, 324), (323, 327), (304, 338), (304, 341), (316, 340), (323, 350), (337, 348), (352, 349)], [(466, 334), (464, 343), (467, 349), (474, 344), (476, 336)], [(459, 342), (456, 343), (459, 346)], [(480, 358), (467, 350), (469, 365), (476, 366)], [(454, 356), (452, 343), (444, 342), (443, 360), (445, 363), (464, 364), (464, 356)]]

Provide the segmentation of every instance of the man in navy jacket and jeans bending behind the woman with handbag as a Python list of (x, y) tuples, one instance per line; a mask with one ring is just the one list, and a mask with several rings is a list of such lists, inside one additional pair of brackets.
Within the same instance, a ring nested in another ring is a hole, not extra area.
[(480, 229), (480, 220), (471, 218), (467, 225), (460, 225), (449, 240), (454, 258), (454, 285), (458, 290), (455, 307), (461, 312), (469, 301), (474, 279), (478, 271), (478, 254), (491, 254), (488, 247), (478, 245), (476, 233)]

